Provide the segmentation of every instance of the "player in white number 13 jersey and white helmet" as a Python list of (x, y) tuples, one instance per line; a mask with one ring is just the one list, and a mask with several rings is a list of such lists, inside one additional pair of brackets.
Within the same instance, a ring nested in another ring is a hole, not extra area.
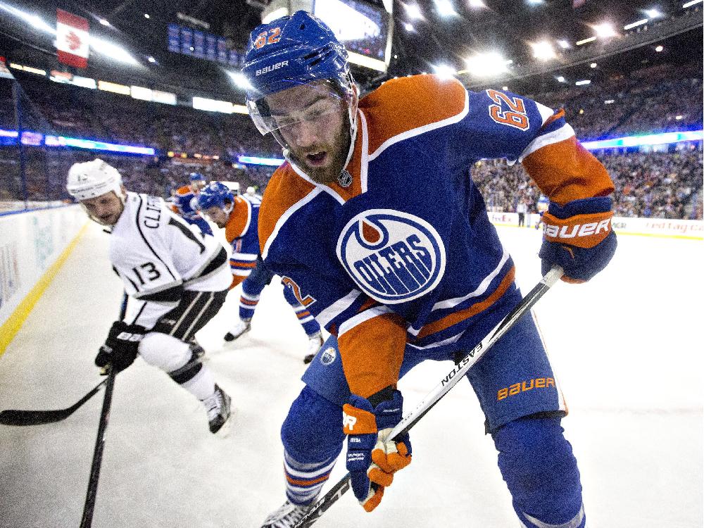
[(113, 270), (130, 296), (95, 363), (116, 372), (137, 353), (164, 370), (206, 407), (210, 432), (230, 417), (230, 396), (201, 363), (194, 335), (218, 312), (230, 285), (227, 251), (172, 214), (161, 198), (127, 192), (102, 160), (75, 163), (67, 189), (89, 218), (108, 227)]

